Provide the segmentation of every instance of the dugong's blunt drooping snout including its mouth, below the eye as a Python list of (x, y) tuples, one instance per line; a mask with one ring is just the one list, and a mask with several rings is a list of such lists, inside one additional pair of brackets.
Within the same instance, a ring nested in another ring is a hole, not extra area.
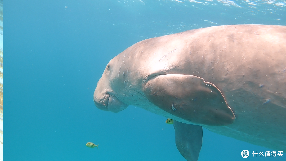
[(93, 100), (97, 108), (104, 111), (120, 112), (128, 107), (121, 102), (116, 96), (109, 94), (101, 81), (98, 81), (94, 91)]

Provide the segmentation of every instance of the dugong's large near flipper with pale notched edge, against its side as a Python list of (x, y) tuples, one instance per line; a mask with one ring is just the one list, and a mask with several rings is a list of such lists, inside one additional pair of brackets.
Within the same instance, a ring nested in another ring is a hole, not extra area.
[(229, 125), (235, 115), (221, 91), (194, 75), (165, 74), (145, 84), (146, 98), (162, 110), (195, 124)]

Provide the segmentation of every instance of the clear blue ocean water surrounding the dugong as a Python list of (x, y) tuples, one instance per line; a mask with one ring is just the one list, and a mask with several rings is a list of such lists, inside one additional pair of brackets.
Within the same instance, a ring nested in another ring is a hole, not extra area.
[[(4, 160), (184, 161), (166, 118), (135, 106), (119, 113), (96, 108), (93, 93), (107, 63), (151, 37), (216, 25), (286, 25), (285, 3), (5, 1)], [(273, 151), (203, 130), (200, 161), (246, 160), (244, 149)]]

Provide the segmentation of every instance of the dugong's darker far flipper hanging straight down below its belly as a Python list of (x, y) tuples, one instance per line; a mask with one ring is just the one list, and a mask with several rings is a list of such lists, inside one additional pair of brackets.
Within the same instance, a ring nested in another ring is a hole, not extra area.
[(202, 148), (202, 126), (174, 120), (176, 146), (188, 161), (197, 161)]

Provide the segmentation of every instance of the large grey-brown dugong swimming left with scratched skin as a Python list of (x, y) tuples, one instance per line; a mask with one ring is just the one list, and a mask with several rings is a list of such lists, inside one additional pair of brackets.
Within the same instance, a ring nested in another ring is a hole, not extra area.
[(188, 161), (198, 160), (202, 127), (286, 151), (286, 26), (215, 26), (140, 41), (110, 60), (94, 103), (173, 119)]

